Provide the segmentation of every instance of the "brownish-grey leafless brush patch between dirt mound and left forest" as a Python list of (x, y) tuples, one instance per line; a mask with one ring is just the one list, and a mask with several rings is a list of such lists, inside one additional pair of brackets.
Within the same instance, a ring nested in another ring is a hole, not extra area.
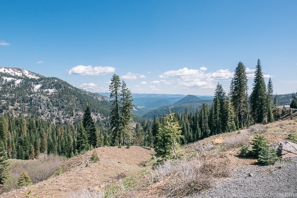
[(5, 182), (6, 191), (19, 188), (17, 182), (23, 171), (33, 183), (46, 180), (56, 172), (62, 160), (63, 157), (57, 155), (41, 155), (36, 160), (11, 160), (9, 178)]

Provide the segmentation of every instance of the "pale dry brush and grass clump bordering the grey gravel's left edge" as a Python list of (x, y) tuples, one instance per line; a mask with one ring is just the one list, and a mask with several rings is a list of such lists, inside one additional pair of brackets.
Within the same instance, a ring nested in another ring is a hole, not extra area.
[(229, 163), (227, 158), (212, 158), (205, 162), (197, 158), (164, 161), (147, 178), (147, 187), (142, 189), (142, 196), (183, 197), (209, 189), (216, 178), (229, 176)]

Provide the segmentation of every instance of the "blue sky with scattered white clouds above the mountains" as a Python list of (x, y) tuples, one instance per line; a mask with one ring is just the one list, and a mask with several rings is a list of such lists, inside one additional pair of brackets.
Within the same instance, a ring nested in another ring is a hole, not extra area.
[(297, 91), (296, 0), (0, 0), (0, 66), (109, 92), (213, 95), (260, 58), (274, 93)]

